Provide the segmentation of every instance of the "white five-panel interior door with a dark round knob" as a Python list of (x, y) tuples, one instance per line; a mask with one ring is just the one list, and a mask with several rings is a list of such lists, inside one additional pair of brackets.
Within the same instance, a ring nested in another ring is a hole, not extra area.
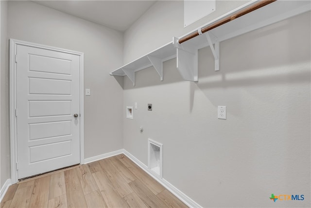
[(17, 45), (18, 179), (80, 163), (79, 58)]

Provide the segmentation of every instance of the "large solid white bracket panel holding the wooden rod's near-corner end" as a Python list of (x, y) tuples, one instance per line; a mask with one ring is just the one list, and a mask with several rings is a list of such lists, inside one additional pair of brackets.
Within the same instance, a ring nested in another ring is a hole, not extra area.
[(178, 40), (173, 37), (177, 51), (177, 70), (184, 80), (198, 81), (198, 49), (190, 44), (181, 45)]

